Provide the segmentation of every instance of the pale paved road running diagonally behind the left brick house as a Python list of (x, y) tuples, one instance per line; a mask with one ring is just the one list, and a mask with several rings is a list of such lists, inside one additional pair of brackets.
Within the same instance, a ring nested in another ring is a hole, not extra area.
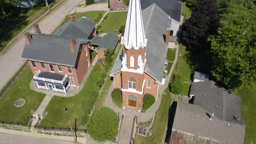
[[(53, 11), (50, 15), (46, 16), (39, 22), (39, 27), (42, 33), (50, 34), (55, 27), (59, 26), (64, 17), (70, 13), (70, 11), (84, 0), (66, 0), (63, 2), (57, 10)], [(33, 33), (34, 31), (31, 30)], [(3, 88), (5, 83), (16, 73), (16, 71), (25, 62), (21, 59), (21, 53), (25, 44), (25, 38), (21, 38), (16, 43), (0, 55), (0, 89)]]

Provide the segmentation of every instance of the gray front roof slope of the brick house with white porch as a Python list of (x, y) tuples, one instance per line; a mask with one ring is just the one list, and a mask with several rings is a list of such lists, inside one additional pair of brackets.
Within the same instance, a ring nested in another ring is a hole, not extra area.
[(74, 67), (80, 44), (88, 44), (89, 40), (74, 38), (75, 51), (71, 52), (70, 39), (56, 35), (32, 34), (32, 43), (25, 44), (21, 57), (31, 61)]

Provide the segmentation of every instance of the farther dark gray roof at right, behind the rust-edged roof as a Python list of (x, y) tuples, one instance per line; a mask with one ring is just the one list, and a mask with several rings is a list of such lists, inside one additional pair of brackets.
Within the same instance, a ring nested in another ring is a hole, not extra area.
[(215, 117), (232, 123), (237, 123), (235, 118), (240, 118), (242, 122), (240, 98), (218, 87), (214, 81), (193, 82), (190, 95), (195, 95), (194, 105), (213, 112)]

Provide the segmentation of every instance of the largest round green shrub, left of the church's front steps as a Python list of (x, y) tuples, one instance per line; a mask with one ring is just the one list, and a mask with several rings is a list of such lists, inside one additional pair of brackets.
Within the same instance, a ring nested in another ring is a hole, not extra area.
[(96, 141), (114, 140), (118, 134), (119, 119), (112, 109), (103, 107), (88, 119), (88, 133)]

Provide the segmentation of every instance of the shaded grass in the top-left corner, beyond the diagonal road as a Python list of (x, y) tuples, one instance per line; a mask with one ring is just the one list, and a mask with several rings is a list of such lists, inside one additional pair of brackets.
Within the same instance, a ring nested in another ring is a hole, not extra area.
[[(48, 10), (44, 3), (44, 1), (40, 1), (30, 9), (15, 8), (7, 10), (7, 16), (0, 16), (0, 51), (24, 28)], [(56, 3), (55, 1), (49, 2), (49, 7), (53, 7)]]

